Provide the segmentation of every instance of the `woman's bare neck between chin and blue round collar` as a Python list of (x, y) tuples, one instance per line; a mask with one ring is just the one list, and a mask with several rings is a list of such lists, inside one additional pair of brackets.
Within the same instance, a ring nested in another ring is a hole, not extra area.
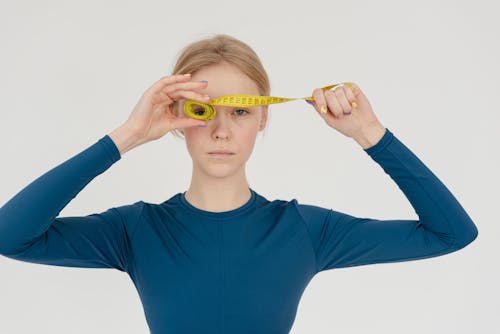
[(184, 197), (198, 209), (224, 212), (244, 205), (251, 195), (244, 169), (224, 178), (202, 176), (193, 170), (191, 184)]

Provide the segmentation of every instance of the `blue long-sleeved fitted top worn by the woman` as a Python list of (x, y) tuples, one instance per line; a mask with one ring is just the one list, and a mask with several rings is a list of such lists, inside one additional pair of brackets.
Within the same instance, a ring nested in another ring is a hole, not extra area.
[(247, 203), (225, 212), (201, 210), (177, 193), (160, 204), (58, 217), (121, 158), (105, 135), (0, 208), (0, 254), (127, 273), (154, 334), (288, 333), (318, 272), (440, 256), (478, 235), (446, 186), (389, 129), (364, 151), (396, 182), (418, 220), (270, 201), (252, 188)]

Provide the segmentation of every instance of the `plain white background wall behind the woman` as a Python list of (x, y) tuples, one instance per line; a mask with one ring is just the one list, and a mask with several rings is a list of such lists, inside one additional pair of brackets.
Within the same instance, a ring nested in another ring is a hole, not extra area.
[[(5, 1), (0, 7), (0, 205), (120, 125), (216, 33), (248, 43), (272, 95), (357, 83), (379, 120), (452, 191), (479, 229), (441, 257), (318, 274), (291, 333), (493, 333), (500, 309), (499, 69), (495, 1)], [(271, 107), (247, 173), (266, 198), (417, 219), (397, 185), (304, 101)], [(279, 157), (277, 159), (276, 157)], [(87, 215), (187, 189), (171, 134), (127, 152), (60, 213)], [(0, 333), (148, 333), (117, 270), (0, 257)]]

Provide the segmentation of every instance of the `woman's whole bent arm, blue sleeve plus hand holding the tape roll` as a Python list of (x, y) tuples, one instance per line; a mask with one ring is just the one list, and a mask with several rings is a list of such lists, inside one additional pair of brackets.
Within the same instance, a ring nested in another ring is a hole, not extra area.
[(144, 202), (85, 217), (57, 217), (93, 178), (139, 145), (173, 129), (204, 124), (173, 112), (180, 99), (205, 97), (204, 82), (187, 75), (162, 77), (149, 87), (128, 119), (94, 145), (33, 181), (0, 208), (0, 254), (28, 262), (126, 271)]

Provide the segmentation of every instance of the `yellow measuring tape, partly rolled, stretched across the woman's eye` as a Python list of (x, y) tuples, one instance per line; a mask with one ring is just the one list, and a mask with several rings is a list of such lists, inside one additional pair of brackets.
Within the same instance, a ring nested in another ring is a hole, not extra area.
[[(325, 86), (321, 88), (323, 91), (331, 89), (335, 86), (339, 86), (345, 84), (352, 88), (352, 82), (341, 82), (333, 85)], [(229, 106), (229, 107), (257, 107), (268, 104), (276, 104), (283, 103), (292, 100), (306, 100), (306, 101), (314, 101), (312, 96), (308, 97), (296, 97), (296, 98), (288, 98), (288, 97), (278, 97), (278, 96), (260, 96), (260, 95), (225, 95), (216, 97), (210, 100), (207, 103), (199, 102), (196, 100), (187, 100), (184, 103), (184, 113), (191, 118), (201, 119), (201, 120), (211, 120), (215, 118), (216, 111), (213, 106)], [(356, 102), (351, 104), (353, 107), (356, 107)], [(198, 107), (201, 107), (198, 108)], [(199, 114), (198, 112), (202, 111), (203, 114)]]

